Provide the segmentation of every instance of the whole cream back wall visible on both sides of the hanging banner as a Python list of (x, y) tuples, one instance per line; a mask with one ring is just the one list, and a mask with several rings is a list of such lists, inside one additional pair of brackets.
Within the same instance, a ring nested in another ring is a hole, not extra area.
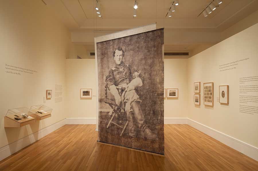
[[(68, 117), (96, 118), (95, 59), (66, 59), (65, 66)], [(179, 88), (179, 98), (164, 98), (164, 117), (186, 118), (187, 59), (165, 59), (164, 75), (165, 88)], [(92, 88), (92, 99), (81, 99), (81, 88)]]

